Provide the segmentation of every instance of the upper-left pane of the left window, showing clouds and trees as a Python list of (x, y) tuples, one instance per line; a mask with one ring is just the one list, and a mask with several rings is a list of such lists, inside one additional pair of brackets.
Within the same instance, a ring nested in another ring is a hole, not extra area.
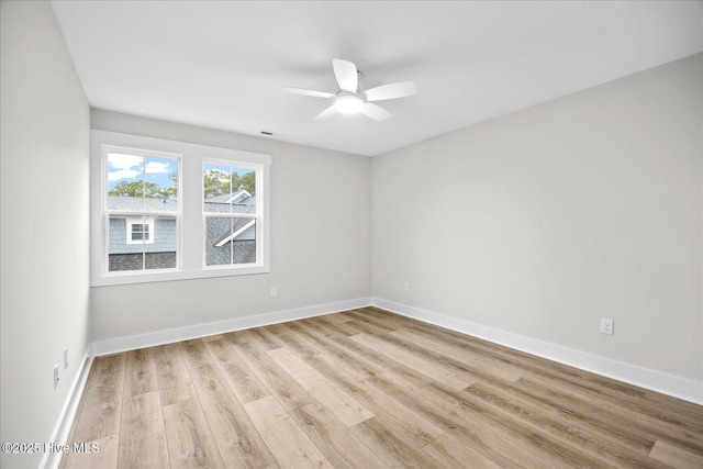
[(108, 209), (144, 210), (144, 157), (108, 154)]

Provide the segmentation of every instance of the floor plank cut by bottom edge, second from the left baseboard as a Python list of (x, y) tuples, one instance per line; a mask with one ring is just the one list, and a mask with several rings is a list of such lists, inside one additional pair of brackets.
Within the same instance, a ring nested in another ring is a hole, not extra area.
[(170, 468), (158, 391), (125, 397), (122, 406), (120, 468)]

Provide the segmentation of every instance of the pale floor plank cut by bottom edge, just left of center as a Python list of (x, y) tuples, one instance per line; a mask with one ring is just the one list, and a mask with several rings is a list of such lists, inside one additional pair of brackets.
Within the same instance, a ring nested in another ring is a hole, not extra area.
[(244, 409), (281, 469), (334, 467), (274, 397)]

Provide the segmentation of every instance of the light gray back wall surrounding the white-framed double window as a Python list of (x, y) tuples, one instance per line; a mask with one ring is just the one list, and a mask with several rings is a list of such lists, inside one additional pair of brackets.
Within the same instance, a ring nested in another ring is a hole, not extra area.
[(272, 155), (271, 272), (92, 288), (93, 340), (370, 295), (368, 157), (103, 110), (91, 126)]

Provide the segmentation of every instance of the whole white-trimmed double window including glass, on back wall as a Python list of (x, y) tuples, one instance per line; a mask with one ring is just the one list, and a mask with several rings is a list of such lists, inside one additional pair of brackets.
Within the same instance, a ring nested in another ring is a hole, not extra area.
[(91, 284), (269, 271), (269, 155), (103, 131), (91, 155)]

